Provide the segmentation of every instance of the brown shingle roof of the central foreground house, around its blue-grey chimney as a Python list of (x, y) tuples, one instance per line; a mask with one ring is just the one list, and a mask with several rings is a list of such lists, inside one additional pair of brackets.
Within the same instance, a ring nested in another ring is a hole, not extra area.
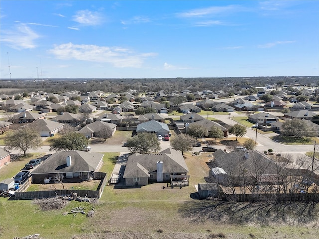
[(163, 173), (189, 172), (182, 153), (167, 148), (160, 153), (132, 154), (127, 161), (123, 178), (150, 177), (149, 173), (156, 172), (156, 162), (163, 162)]

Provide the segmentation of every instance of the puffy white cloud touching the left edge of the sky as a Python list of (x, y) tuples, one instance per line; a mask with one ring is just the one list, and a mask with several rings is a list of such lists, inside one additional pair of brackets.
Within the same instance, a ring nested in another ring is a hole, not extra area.
[(35, 48), (34, 41), (40, 36), (24, 23), (15, 25), (13, 30), (3, 30), (1, 41), (14, 49)]

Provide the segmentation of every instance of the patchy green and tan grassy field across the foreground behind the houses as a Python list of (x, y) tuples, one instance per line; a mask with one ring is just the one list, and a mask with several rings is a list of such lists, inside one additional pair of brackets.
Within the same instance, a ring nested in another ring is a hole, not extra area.
[[(110, 175), (118, 155), (105, 153), (101, 171)], [(32, 200), (1, 197), (0, 238), (34, 233), (42, 239), (317, 238), (317, 205), (192, 199), (195, 185), (208, 176), (208, 155), (186, 154), (190, 186), (181, 189), (166, 183), (128, 189), (106, 186), (97, 204), (70, 201), (65, 208), (50, 211), (42, 211)], [(78, 206), (86, 212), (94, 208), (94, 217), (63, 215)]]

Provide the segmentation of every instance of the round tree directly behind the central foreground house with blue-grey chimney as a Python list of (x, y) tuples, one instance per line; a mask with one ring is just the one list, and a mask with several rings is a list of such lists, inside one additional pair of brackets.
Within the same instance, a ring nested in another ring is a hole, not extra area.
[(160, 141), (154, 133), (138, 133), (127, 140), (127, 147), (131, 152), (141, 154), (160, 151)]

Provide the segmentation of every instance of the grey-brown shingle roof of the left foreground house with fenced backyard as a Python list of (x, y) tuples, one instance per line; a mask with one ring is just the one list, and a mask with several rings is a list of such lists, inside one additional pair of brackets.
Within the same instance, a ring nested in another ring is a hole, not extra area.
[[(71, 165), (66, 166), (66, 157), (71, 156)], [(97, 169), (104, 154), (84, 151), (63, 151), (52, 154), (36, 167), (32, 174), (91, 172)]]

